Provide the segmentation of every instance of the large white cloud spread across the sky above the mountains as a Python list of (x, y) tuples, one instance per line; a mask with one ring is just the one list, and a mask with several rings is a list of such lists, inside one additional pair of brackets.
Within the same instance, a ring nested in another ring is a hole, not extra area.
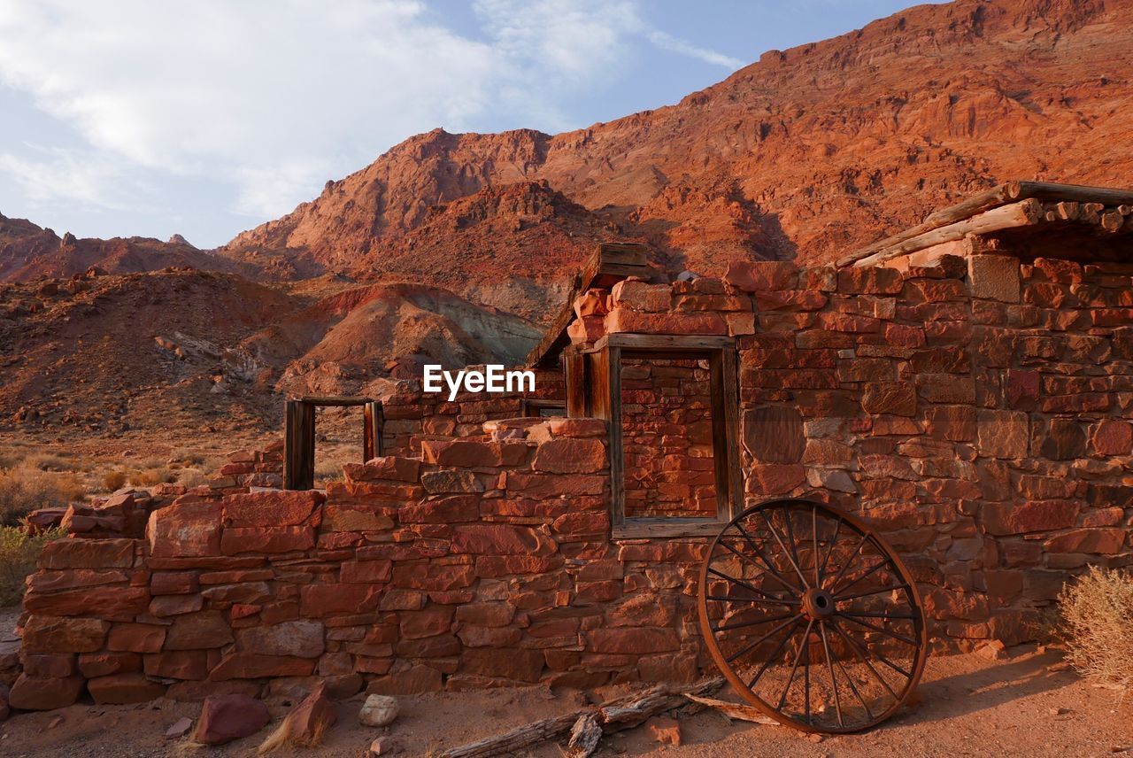
[(36, 198), (108, 207), (135, 202), (108, 191), (131, 168), (208, 178), (271, 218), (435, 126), (489, 109), (564, 125), (560, 96), (615, 75), (630, 37), (732, 65), (649, 27), (636, 0), (475, 8), (487, 41), (415, 0), (0, 0), (0, 84), (85, 143), (9, 150), (0, 171)]

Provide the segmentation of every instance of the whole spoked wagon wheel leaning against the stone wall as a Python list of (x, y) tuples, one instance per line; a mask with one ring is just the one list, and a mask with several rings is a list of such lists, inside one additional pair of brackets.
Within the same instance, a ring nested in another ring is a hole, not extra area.
[(859, 519), (786, 499), (749, 508), (700, 569), (700, 629), (746, 700), (806, 732), (859, 732), (901, 707), (928, 651), (920, 595)]

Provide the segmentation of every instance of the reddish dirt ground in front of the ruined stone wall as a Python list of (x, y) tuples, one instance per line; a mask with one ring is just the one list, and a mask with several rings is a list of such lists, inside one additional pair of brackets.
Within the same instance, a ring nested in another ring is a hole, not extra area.
[[(1116, 693), (1090, 687), (1068, 671), (1048, 670), (1055, 653), (1020, 651), (1005, 661), (978, 656), (930, 659), (918, 702), (874, 732), (812, 742), (778, 726), (729, 724), (714, 712), (682, 721), (684, 744), (661, 747), (644, 729), (607, 738), (599, 756), (672, 758), (740, 756), (1133, 756), (1133, 702), (1117, 709)], [(401, 756), (440, 750), (506, 731), (528, 721), (577, 709), (580, 693), (552, 696), (538, 688), (402, 698), (389, 733)], [(358, 758), (382, 733), (363, 727), (360, 699), (340, 704), (340, 723), (317, 750), (279, 756)], [(282, 700), (273, 714), (287, 712)], [(0, 755), (19, 756), (249, 756), (266, 731), (222, 749), (167, 742), (164, 730), (195, 704), (161, 700), (142, 706), (76, 705), (22, 714), (0, 724)], [(531, 758), (560, 758), (557, 746)]]

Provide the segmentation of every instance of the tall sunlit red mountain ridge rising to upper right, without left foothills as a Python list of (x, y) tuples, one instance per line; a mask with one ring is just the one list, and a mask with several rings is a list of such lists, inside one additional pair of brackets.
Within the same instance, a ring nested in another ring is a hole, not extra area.
[(1128, 185), (1131, 14), (1131, 0), (919, 6), (610, 124), (437, 129), (221, 253), (543, 316), (596, 239), (648, 240), (676, 271), (825, 262), (1007, 179)]

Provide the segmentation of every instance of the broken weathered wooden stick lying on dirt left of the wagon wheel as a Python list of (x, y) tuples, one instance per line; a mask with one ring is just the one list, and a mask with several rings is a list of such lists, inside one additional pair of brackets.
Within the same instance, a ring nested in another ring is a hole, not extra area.
[[(452, 750), (445, 750), (441, 753), (441, 758), (488, 758), (489, 756), (510, 755), (539, 742), (565, 736), (586, 716), (591, 716), (595, 725), (602, 727), (602, 731), (608, 734), (642, 724), (659, 713), (679, 708), (687, 702), (687, 696), (689, 695), (698, 697), (712, 695), (722, 687), (724, 687), (724, 680), (721, 676), (702, 679), (687, 687), (658, 684), (644, 692), (633, 692), (614, 698), (600, 706), (591, 706), (563, 716), (531, 722), (504, 734), (497, 734), (477, 740), (476, 742), (469, 742)], [(580, 727), (580, 730), (587, 729), (588, 726), (586, 725)]]

